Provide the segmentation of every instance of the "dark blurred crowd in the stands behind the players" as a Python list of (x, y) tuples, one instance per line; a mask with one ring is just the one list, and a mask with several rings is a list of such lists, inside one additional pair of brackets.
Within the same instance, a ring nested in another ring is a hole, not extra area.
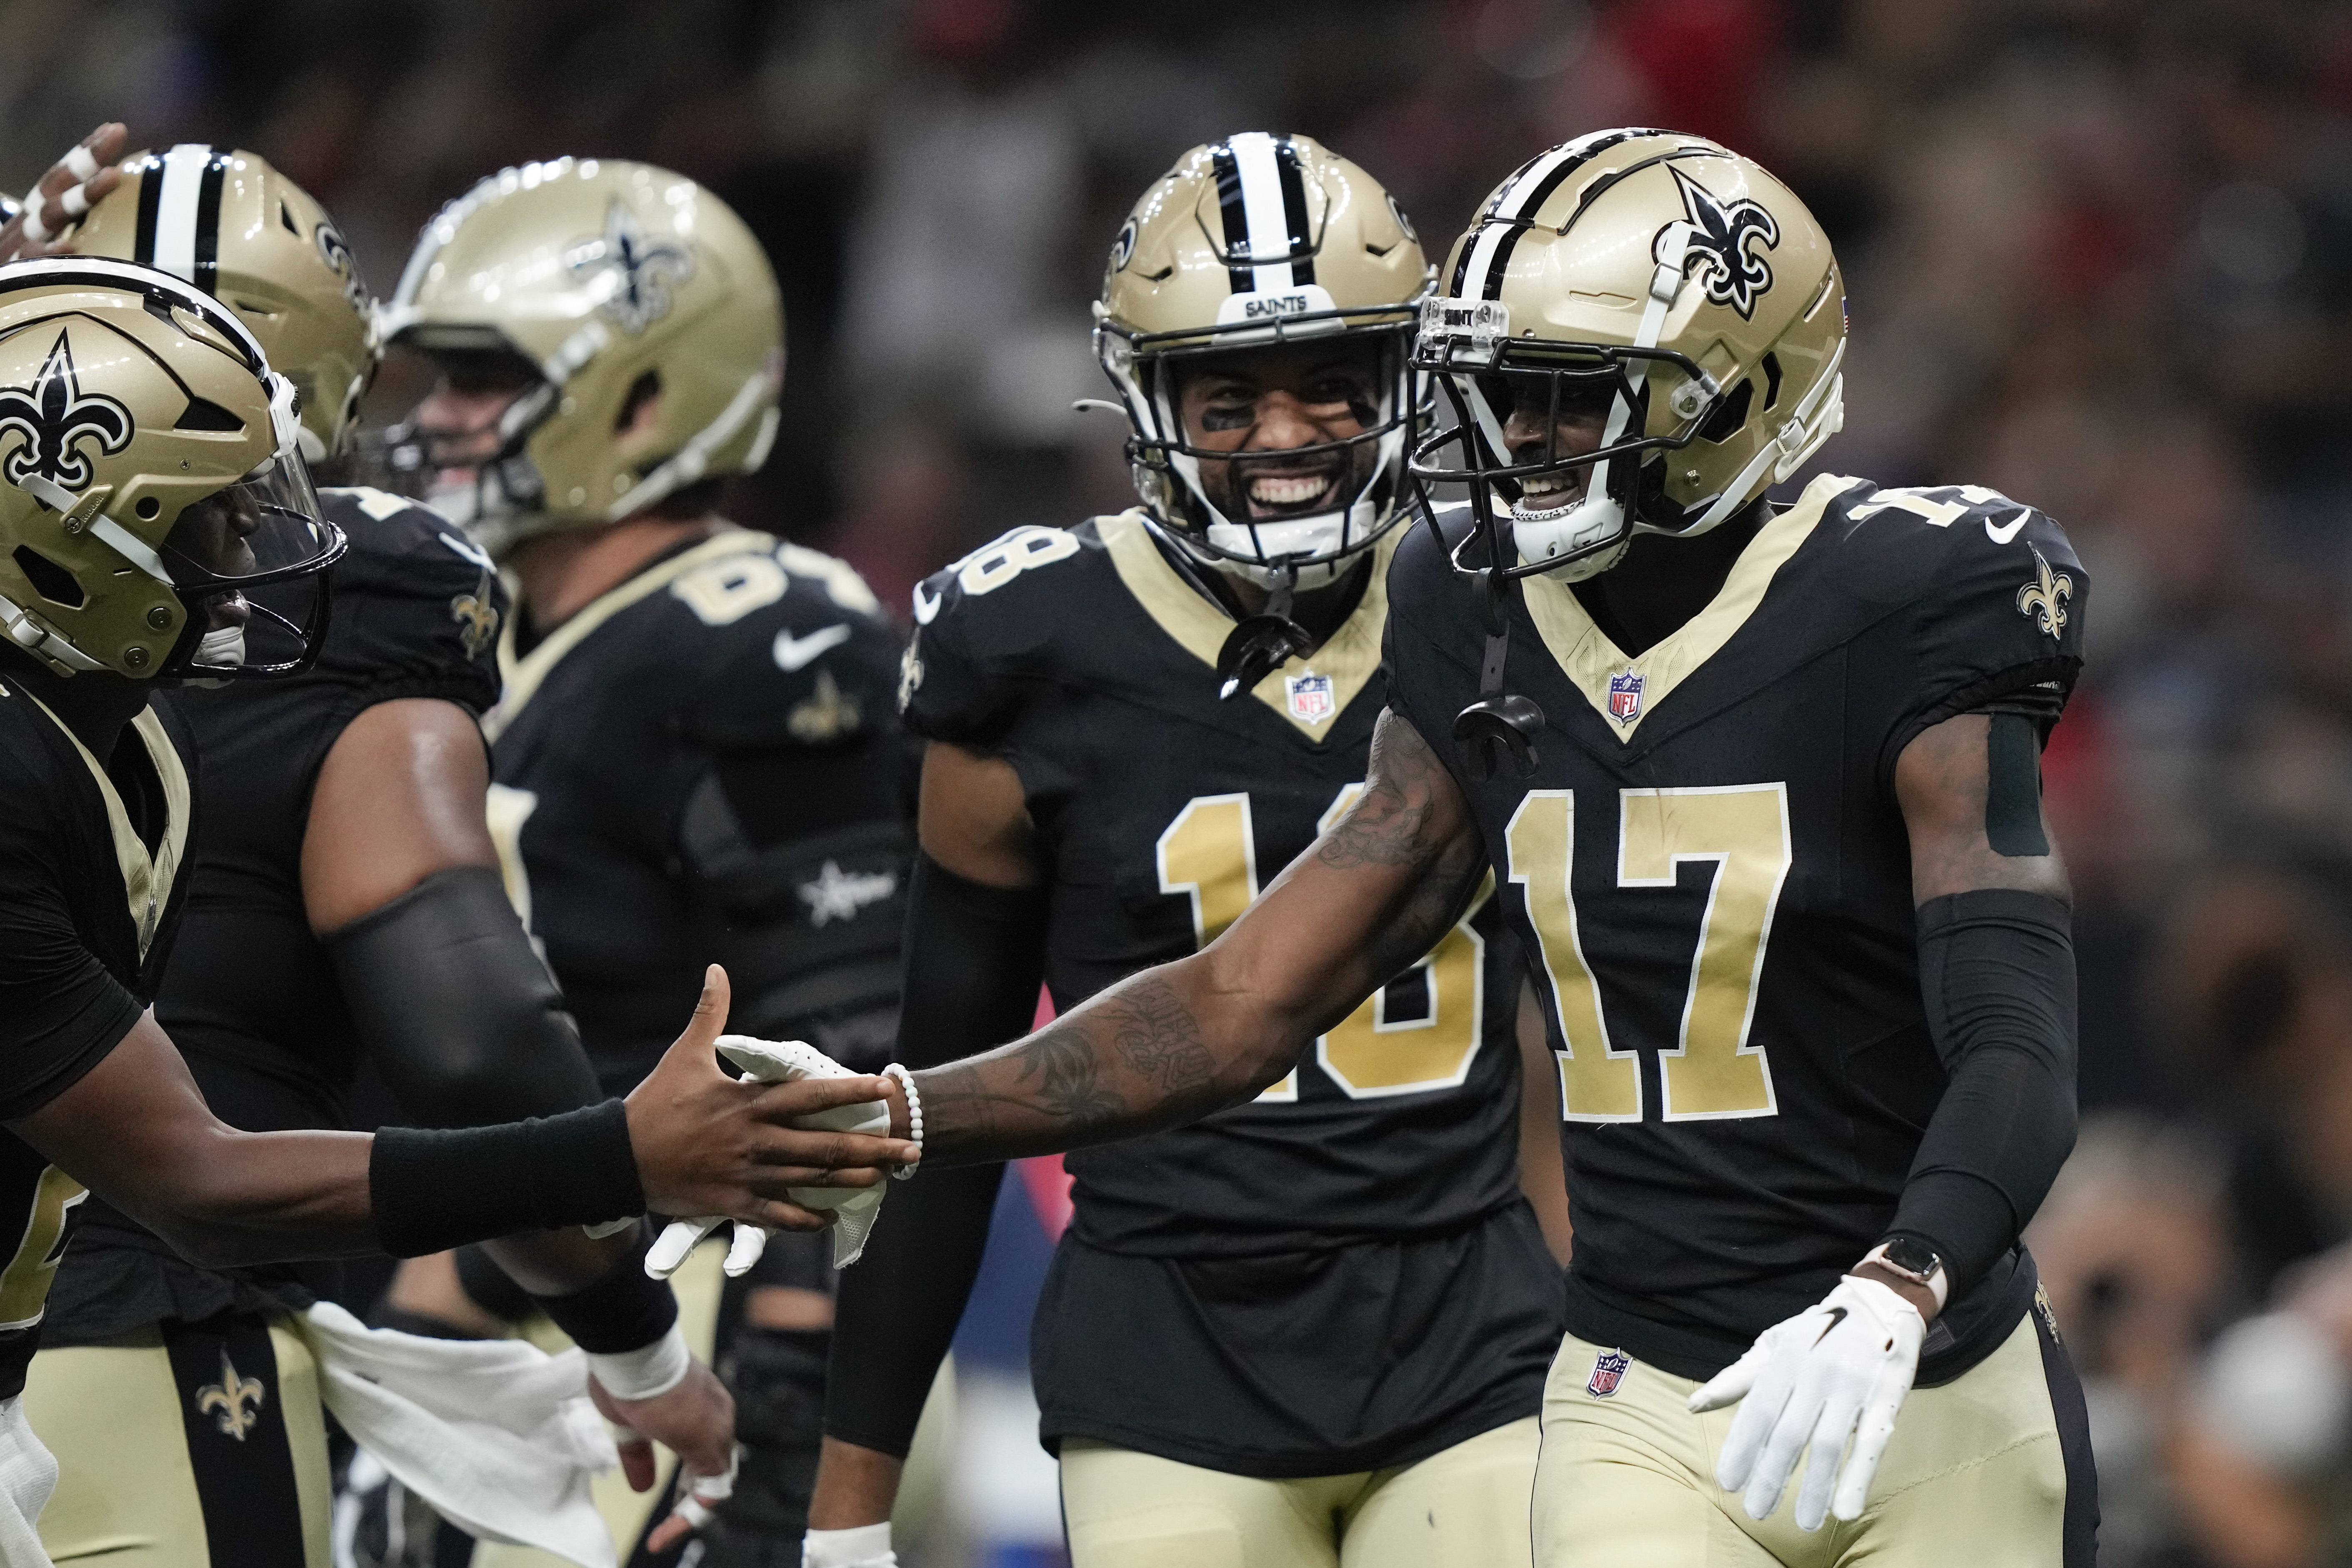
[[(501, 165), (710, 183), (790, 320), (783, 437), (736, 515), (894, 604), (1014, 524), (1127, 503), (1120, 421), (1070, 411), (1103, 393), (1087, 301), (1188, 146), (1308, 132), (1432, 259), (1585, 129), (1757, 155), (1849, 273), (1825, 465), (2027, 498), (2096, 583), (2049, 755), (2084, 1133), (2032, 1244), (2107, 1561), (2352, 1561), (2352, 5), (0, 2), (0, 186), (106, 118), (268, 155), (379, 289)], [(388, 367), (376, 416), (414, 390)], [(1037, 1253), (1054, 1182), (1007, 1192)], [(1018, 1427), (1018, 1274), (967, 1324), (1000, 1368), (967, 1427)], [(967, 1443), (950, 1540), (1051, 1540), (1051, 1474), (1016, 1450)]]

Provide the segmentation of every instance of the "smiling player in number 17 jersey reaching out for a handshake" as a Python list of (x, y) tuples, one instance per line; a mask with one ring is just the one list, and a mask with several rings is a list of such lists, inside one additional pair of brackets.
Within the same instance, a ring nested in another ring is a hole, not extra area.
[[(2037, 762), (2082, 562), (1976, 487), (1766, 501), (1839, 425), (1844, 284), (1717, 143), (1543, 153), (1442, 289), (1416, 465), (1472, 501), (1397, 548), (1362, 797), (1223, 938), (915, 1074), (901, 1126), (1002, 1159), (1247, 1100), (1491, 875), (1571, 1124), (1536, 1561), (2089, 1563), (2018, 1246), (2074, 1138)], [(1075, 581), (1049, 552), (1018, 583)]]

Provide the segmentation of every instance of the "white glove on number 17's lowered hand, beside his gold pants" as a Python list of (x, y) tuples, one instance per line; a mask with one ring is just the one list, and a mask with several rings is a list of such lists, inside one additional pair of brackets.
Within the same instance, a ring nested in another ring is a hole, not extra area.
[[(1750, 1519), (1769, 1519), (1811, 1443), (1797, 1528), (1825, 1514), (1858, 1519), (1879, 1469), (1896, 1413), (1919, 1371), (1926, 1319), (1889, 1286), (1846, 1274), (1835, 1291), (1757, 1335), (1745, 1356), (1691, 1394), (1691, 1413), (1738, 1401), (1715, 1481), (1743, 1493)], [(1853, 1453), (1839, 1465), (1846, 1439)], [(1830, 1488), (1837, 1488), (1832, 1497)], [(1743, 1490), (1745, 1488), (1745, 1490)]]

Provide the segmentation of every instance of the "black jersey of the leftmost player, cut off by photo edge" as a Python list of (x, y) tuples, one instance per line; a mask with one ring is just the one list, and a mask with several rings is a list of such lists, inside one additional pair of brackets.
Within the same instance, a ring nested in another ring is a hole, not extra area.
[[(122, 1044), (186, 905), (186, 731), (148, 708), (106, 766), (0, 675), (0, 1119), (26, 1117)], [(82, 1185), (0, 1131), (0, 1399), (24, 1392)]]

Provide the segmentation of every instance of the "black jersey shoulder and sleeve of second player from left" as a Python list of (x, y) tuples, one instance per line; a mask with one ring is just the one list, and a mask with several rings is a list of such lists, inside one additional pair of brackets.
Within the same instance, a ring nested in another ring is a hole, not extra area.
[(320, 510), (350, 541), (318, 672), (475, 712), (499, 701), (508, 597), (489, 555), (440, 512), (381, 489), (325, 489)]

